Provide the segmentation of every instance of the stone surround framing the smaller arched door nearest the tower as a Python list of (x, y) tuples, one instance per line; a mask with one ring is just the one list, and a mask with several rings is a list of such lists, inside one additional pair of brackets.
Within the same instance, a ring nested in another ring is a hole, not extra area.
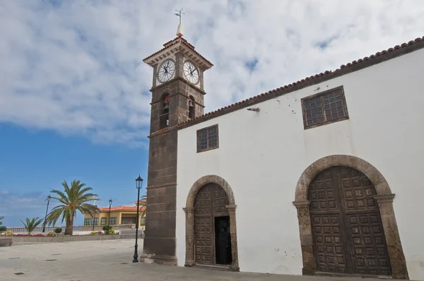
[(232, 189), (225, 179), (216, 175), (208, 175), (198, 179), (192, 186), (187, 196), (186, 207), (182, 208), (186, 214), (186, 258), (185, 266), (193, 266), (196, 264), (194, 259), (194, 199), (199, 190), (206, 184), (218, 184), (227, 193), (230, 205), (227, 205), (228, 213), (230, 214), (230, 236), (231, 236), (231, 254), (232, 263), (230, 270), (239, 271), (238, 266), (238, 251), (237, 251), (237, 225), (235, 220), (235, 199)]

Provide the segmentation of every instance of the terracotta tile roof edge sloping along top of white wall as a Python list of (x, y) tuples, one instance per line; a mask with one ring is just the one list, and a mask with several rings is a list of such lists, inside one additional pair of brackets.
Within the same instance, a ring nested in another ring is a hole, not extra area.
[(220, 113), (220, 112), (227, 112), (227, 111), (228, 112), (231, 112), (232, 110), (234, 110), (234, 107), (237, 107), (237, 105), (245, 104), (247, 102), (252, 102), (254, 100), (257, 100), (259, 97), (264, 97), (264, 96), (267, 96), (267, 95), (271, 95), (274, 92), (278, 92), (279, 90), (293, 88), (296, 85), (300, 85), (302, 83), (306, 83), (307, 81), (314, 80), (316, 78), (321, 78), (322, 76), (327, 76), (327, 75), (329, 75), (331, 73), (336, 73), (338, 71), (341, 71), (341, 69), (344, 70), (344, 69), (349, 68), (351, 66), (354, 66), (354, 65), (357, 65), (357, 64), (361, 64), (364, 61), (370, 61), (372, 59), (377, 58), (378, 56), (384, 56), (385, 54), (389, 54), (391, 52), (395, 52), (396, 50), (403, 49), (405, 47), (411, 46), (411, 45), (416, 44), (416, 43), (421, 42), (421, 41), (424, 41), (424, 36), (423, 37), (418, 37), (418, 38), (416, 38), (416, 40), (411, 40), (408, 43), (401, 44), (400, 46), (399, 45), (396, 45), (395, 47), (389, 48), (389, 49), (384, 50), (382, 52), (377, 52), (376, 54), (372, 54), (370, 56), (365, 56), (363, 59), (358, 59), (357, 61), (352, 61), (351, 63), (348, 63), (346, 65), (345, 64), (342, 64), (339, 69), (336, 69), (336, 71), (324, 71), (324, 73), (315, 74), (314, 76), (307, 77), (307, 78), (302, 79), (302, 80), (299, 80), (299, 81), (297, 81), (295, 83), (291, 83), (291, 84), (285, 85), (283, 87), (280, 87), (280, 88), (277, 88), (277, 89), (274, 89), (274, 90), (270, 90), (269, 92), (261, 93), (259, 95), (254, 96), (254, 97), (249, 97), (247, 100), (242, 100), (241, 102), (236, 102), (236, 103), (231, 104), (231, 105), (228, 105), (226, 107), (221, 107), (220, 109), (216, 109), (213, 112), (208, 112), (208, 113), (206, 113), (204, 115), (198, 116), (195, 119), (190, 119), (188, 121), (181, 122), (181, 123), (177, 124), (177, 126), (183, 126), (183, 125), (190, 124), (190, 123), (199, 123), (199, 121), (201, 122), (201, 119), (211, 119), (214, 116), (218, 116), (218, 113)]

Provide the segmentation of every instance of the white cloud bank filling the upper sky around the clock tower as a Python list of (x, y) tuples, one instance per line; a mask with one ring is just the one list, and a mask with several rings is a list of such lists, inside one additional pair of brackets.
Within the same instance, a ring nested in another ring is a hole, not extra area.
[(422, 37), (421, 0), (0, 1), (0, 121), (142, 145), (152, 69), (184, 37), (214, 66), (206, 112)]

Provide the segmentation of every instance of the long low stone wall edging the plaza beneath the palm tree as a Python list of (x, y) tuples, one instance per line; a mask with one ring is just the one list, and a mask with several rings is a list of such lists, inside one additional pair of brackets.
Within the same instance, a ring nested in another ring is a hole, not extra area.
[[(134, 237), (135, 238), (135, 237)], [(121, 239), (119, 234), (114, 235), (59, 235), (57, 237), (28, 237), (13, 236), (13, 245), (42, 244), (42, 243), (60, 243), (71, 241), (96, 241), (96, 240), (116, 240)]]

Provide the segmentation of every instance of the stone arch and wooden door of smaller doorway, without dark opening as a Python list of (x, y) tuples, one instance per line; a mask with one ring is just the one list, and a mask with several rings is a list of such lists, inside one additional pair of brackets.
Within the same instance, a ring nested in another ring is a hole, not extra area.
[(239, 270), (235, 200), (230, 185), (216, 175), (201, 177), (187, 196), (185, 266), (217, 265), (216, 218), (228, 217), (230, 228), (230, 270)]

